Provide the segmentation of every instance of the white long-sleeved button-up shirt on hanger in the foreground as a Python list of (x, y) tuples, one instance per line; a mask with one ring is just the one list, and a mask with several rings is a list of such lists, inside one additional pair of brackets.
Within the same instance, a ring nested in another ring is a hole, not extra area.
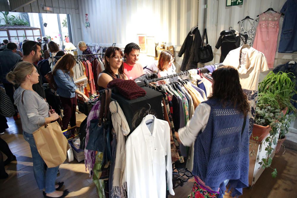
[(129, 198), (163, 198), (167, 188), (174, 195), (168, 122), (143, 118), (126, 142), (125, 173)]

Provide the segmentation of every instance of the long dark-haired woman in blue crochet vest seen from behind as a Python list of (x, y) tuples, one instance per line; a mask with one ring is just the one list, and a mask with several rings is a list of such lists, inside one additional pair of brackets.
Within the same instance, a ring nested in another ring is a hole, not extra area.
[(194, 143), (195, 183), (189, 197), (219, 197), (226, 186), (232, 196), (249, 184), (249, 104), (237, 70), (220, 67), (212, 73), (213, 92), (199, 104), (192, 119), (176, 132), (185, 146)]

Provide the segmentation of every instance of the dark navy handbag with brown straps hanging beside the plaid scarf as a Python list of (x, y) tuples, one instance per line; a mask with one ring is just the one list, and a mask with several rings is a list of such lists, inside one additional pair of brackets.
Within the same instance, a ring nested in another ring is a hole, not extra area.
[[(110, 119), (109, 119), (109, 103), (111, 97), (111, 90), (105, 90), (105, 94), (101, 96), (101, 107), (99, 113), (99, 119), (91, 120), (90, 128), (89, 128), (89, 142), (86, 146), (87, 150), (92, 151), (107, 151), (106, 147), (109, 145), (105, 145), (106, 142), (106, 134), (108, 134), (108, 130), (111, 130)], [(110, 145), (111, 147), (111, 145)], [(111, 149), (110, 149), (111, 150)]]

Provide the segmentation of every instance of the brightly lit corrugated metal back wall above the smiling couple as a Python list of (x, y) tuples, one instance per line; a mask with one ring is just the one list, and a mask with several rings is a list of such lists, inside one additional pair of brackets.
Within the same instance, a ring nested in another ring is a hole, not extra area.
[(81, 24), (85, 14), (90, 27), (82, 28), (87, 43), (125, 46), (137, 34), (153, 36), (156, 42), (181, 45), (187, 32), (197, 25), (197, 0), (85, 0), (79, 2)]

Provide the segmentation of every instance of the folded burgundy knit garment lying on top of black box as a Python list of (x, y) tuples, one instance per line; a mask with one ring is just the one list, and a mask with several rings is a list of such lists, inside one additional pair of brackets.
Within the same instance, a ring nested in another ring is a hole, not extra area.
[(110, 81), (107, 88), (116, 87), (119, 93), (129, 100), (133, 100), (146, 95), (146, 91), (139, 87), (133, 80), (123, 80), (116, 78)]

